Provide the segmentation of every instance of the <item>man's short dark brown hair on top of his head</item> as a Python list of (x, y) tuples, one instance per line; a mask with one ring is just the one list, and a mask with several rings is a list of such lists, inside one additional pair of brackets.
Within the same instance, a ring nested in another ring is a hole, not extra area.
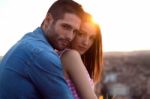
[(63, 18), (65, 13), (73, 13), (78, 17), (83, 16), (82, 6), (73, 0), (57, 0), (49, 8), (47, 14), (51, 14), (54, 20)]

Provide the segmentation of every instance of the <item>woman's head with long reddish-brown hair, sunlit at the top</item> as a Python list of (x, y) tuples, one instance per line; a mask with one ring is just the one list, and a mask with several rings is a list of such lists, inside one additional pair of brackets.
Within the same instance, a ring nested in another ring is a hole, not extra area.
[(102, 35), (99, 25), (92, 21), (92, 16), (86, 13), (80, 32), (71, 42), (71, 48), (81, 54), (82, 60), (95, 81), (99, 80), (102, 71)]

